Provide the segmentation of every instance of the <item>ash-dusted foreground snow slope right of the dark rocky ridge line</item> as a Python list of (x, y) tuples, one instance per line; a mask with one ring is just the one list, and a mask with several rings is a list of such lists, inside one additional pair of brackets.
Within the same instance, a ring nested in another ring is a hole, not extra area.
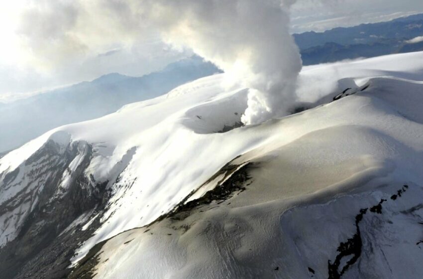
[[(396, 106), (399, 88), (408, 92)], [(336, 273), (328, 261), (364, 208), (361, 258), (342, 278), (421, 278), (422, 88), (377, 78), (365, 93), (257, 127), (270, 139), (233, 162), (257, 165), (245, 191), (111, 239), (95, 278), (338, 278), (352, 255)]]

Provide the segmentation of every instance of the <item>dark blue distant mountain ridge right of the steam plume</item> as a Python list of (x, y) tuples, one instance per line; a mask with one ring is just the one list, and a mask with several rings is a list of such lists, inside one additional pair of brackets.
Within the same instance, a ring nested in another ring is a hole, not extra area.
[(387, 22), (338, 27), (324, 32), (294, 34), (303, 65), (335, 62), (359, 57), (423, 50), (423, 43), (409, 43), (423, 35), (423, 14)]

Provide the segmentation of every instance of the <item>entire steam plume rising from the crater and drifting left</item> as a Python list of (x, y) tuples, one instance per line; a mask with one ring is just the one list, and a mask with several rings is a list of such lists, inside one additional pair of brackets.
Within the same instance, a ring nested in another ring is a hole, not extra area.
[[(38, 60), (54, 63), (158, 30), (167, 43), (192, 49), (242, 80), (250, 88), (242, 121), (254, 124), (287, 114), (295, 102), (302, 67), (289, 34), (295, 1), (42, 0), (42, 8), (25, 14), (22, 32)], [(40, 18), (34, 32), (32, 22)]]

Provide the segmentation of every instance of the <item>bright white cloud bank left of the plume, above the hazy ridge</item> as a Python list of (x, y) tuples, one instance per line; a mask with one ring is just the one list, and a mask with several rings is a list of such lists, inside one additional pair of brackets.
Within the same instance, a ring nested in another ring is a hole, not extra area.
[[(110, 72), (143, 75), (192, 55), (170, 48), (157, 31), (138, 28), (134, 15), (125, 14), (119, 1), (1, 1), (0, 31), (3, 95)], [(120, 51), (110, 53), (116, 49)]]

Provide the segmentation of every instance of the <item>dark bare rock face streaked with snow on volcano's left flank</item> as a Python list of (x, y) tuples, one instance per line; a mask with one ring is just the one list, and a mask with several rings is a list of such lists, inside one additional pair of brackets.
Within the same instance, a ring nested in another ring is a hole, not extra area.
[[(84, 213), (85, 218), (97, 214), (107, 198), (106, 183), (97, 184), (84, 174), (92, 152), (86, 142), (63, 146), (49, 140), (5, 175), (0, 192), (18, 186), (20, 191), (0, 204), (2, 233), (16, 232), (10, 234), (13, 239), (6, 236), (8, 242), (0, 250), (4, 278), (53, 279), (69, 272), (66, 267), (75, 249), (97, 225), (93, 222), (83, 231), (76, 219)], [(80, 163), (71, 171), (69, 166), (77, 156)]]

